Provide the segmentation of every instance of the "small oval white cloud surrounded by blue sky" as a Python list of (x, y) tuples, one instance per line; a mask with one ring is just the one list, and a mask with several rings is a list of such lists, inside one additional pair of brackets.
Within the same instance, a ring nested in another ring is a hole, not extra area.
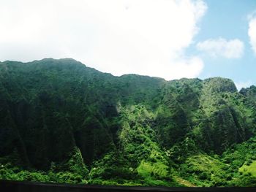
[(244, 42), (239, 39), (207, 39), (197, 43), (197, 49), (212, 57), (241, 58), (244, 54)]

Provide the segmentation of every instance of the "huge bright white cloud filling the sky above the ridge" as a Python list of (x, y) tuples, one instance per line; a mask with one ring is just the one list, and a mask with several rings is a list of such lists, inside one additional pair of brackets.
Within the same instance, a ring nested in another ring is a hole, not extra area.
[(184, 50), (206, 12), (201, 0), (0, 2), (0, 61), (75, 58), (102, 72), (197, 77)]

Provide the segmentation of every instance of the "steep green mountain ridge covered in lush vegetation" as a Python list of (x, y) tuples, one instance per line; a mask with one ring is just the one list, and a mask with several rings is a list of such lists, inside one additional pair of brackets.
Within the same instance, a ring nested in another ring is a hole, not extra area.
[(0, 62), (0, 179), (255, 186), (256, 87)]

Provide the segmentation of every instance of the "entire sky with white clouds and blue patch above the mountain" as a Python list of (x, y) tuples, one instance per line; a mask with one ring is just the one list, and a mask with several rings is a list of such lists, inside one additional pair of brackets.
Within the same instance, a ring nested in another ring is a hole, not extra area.
[(256, 0), (0, 0), (0, 61), (256, 85)]

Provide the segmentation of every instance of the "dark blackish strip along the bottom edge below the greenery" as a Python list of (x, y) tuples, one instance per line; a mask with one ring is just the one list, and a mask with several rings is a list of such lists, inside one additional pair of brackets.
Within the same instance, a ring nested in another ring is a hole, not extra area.
[(256, 188), (166, 188), (166, 187), (127, 187), (106, 185), (69, 185), (53, 183), (20, 182), (0, 180), (0, 191), (26, 191), (26, 192), (146, 192), (146, 191), (172, 191), (172, 192), (195, 192), (195, 191), (256, 191)]

